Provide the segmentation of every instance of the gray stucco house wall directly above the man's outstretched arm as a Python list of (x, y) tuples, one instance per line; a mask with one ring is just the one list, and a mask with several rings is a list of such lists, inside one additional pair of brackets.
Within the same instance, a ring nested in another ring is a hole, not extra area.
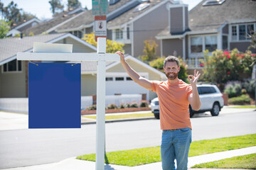
[[(160, 40), (156, 40), (155, 36), (161, 31), (161, 29), (168, 26), (168, 13), (166, 4), (159, 6), (155, 10), (147, 13), (142, 18), (139, 18), (133, 23), (133, 56), (138, 57), (144, 55), (144, 40), (155, 40), (158, 47), (156, 49), (156, 55), (160, 56)], [(154, 21), (154, 22), (153, 22)]]

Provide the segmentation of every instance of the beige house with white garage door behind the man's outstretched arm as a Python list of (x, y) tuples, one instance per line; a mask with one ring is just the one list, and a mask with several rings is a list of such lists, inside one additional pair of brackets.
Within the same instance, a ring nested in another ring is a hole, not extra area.
[[(166, 75), (157, 69), (138, 60), (136, 57), (127, 55), (125, 60), (142, 77), (151, 80), (166, 80)], [(97, 62), (82, 62), (82, 96), (96, 94)], [(83, 87), (86, 88), (83, 88)], [(128, 90), (129, 89), (129, 90)], [(125, 72), (120, 62), (106, 63), (106, 95), (117, 94), (143, 94), (144, 99), (150, 101), (156, 97), (156, 93), (144, 89), (136, 84)]]

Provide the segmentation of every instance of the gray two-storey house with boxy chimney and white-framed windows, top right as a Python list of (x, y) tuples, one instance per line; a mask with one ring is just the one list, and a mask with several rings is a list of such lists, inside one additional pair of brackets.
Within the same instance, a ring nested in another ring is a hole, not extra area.
[(189, 12), (181, 2), (169, 6), (169, 26), (156, 35), (161, 56), (176, 54), (188, 61), (188, 69), (200, 69), (204, 50), (245, 52), (247, 35), (256, 31), (255, 8), (251, 0), (203, 0)]

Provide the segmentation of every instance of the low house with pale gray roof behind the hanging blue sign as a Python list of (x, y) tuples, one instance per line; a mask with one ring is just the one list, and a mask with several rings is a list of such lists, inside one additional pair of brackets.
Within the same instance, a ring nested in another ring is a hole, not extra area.
[(33, 42), (73, 44), (73, 52), (96, 52), (96, 47), (70, 33), (0, 39), (0, 98), (28, 97), (28, 62), (17, 52), (32, 52)]

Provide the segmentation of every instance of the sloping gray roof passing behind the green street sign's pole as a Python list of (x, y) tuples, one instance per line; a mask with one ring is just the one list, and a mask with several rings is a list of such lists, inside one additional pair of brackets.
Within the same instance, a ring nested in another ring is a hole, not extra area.
[[(109, 6), (109, 13), (116, 10), (117, 8), (120, 8), (124, 4), (127, 4), (130, 0), (120, 0), (117, 2), (117, 4)], [(82, 26), (86, 26), (90, 23), (93, 23), (95, 20), (94, 16), (92, 16), (92, 10), (83, 12), (80, 16), (74, 18), (72, 21), (69, 21), (63, 26), (58, 27), (56, 30), (67, 30), (67, 29), (75, 29)]]

